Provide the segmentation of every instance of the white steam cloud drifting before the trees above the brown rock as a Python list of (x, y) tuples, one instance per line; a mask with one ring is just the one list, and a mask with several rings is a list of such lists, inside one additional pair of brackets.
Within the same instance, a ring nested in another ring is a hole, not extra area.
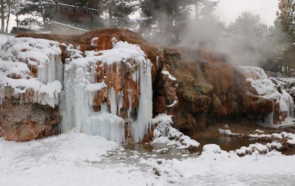
[[(246, 12), (243, 16), (245, 20), (237, 19), (238, 23), (229, 25), (213, 17), (192, 20), (183, 30), (179, 45), (226, 53), (236, 65), (260, 66), (283, 48), (283, 43), (271, 37), (271, 29), (259, 22), (259, 16)], [(275, 32), (276, 35), (283, 35), (279, 29)]]

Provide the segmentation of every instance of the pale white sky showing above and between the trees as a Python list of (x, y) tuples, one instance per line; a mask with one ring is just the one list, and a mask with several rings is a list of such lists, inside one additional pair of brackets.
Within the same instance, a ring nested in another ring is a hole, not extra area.
[[(279, 0), (219, 0), (215, 14), (223, 22), (234, 21), (242, 12), (248, 11), (259, 14), (261, 21), (272, 25), (275, 20), (275, 13), (278, 11)], [(9, 21), (9, 31), (16, 26), (16, 17), (12, 16)], [(21, 18), (20, 18), (21, 19)], [(6, 24), (6, 22), (5, 22)]]

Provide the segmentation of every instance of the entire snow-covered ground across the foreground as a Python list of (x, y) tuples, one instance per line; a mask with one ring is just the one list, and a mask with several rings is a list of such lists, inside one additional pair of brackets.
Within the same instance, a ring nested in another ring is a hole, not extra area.
[(24, 143), (0, 139), (0, 186), (294, 184), (294, 155), (269, 152), (238, 157), (218, 152), (208, 150), (198, 157), (182, 154), (176, 159), (156, 151), (151, 155), (124, 150), (100, 136), (75, 131)]

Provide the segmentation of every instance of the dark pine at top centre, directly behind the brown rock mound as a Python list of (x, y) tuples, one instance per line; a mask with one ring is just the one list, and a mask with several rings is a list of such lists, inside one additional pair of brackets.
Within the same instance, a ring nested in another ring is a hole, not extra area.
[(181, 28), (190, 18), (190, 0), (142, 0), (139, 32), (144, 36), (162, 39), (162, 43), (176, 43)]

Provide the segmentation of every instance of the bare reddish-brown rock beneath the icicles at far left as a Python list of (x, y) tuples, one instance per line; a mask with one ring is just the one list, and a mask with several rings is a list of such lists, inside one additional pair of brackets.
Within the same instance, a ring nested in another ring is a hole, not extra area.
[(29, 141), (59, 134), (59, 109), (37, 103), (5, 99), (0, 107), (0, 136), (6, 140)]

